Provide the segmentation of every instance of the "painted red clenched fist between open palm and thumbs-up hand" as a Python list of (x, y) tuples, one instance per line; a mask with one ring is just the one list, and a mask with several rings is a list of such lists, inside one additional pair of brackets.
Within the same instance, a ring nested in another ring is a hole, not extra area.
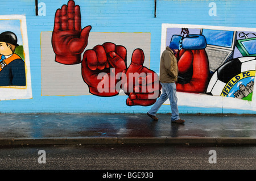
[[(117, 82), (126, 66), (126, 48), (113, 43), (97, 45), (86, 50), (82, 58), (82, 78), (90, 93), (114, 96), (119, 93)], [(119, 76), (116, 76), (119, 73)]]

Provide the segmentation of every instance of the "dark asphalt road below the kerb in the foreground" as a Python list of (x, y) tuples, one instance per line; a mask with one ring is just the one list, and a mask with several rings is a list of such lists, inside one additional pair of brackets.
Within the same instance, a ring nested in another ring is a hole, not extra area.
[(255, 170), (255, 153), (244, 145), (0, 146), (0, 169)]

